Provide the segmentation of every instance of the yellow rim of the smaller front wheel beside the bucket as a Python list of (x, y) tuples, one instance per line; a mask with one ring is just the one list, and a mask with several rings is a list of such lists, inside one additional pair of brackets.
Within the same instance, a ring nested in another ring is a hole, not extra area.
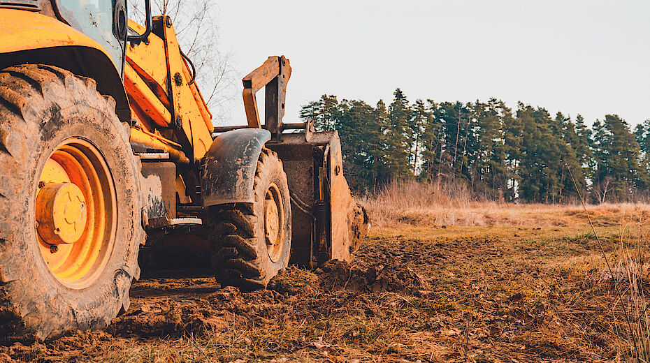
[(268, 257), (277, 262), (284, 246), (284, 201), (280, 188), (271, 183), (264, 200), (264, 237)]

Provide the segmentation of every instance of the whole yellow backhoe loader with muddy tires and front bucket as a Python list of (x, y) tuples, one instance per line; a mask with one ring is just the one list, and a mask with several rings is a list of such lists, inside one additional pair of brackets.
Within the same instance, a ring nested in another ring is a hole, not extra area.
[(243, 79), (247, 125), (215, 127), (171, 18), (143, 6), (140, 26), (125, 0), (0, 0), (2, 341), (106, 327), (161, 236), (203, 231), (217, 281), (252, 290), (367, 232), (336, 131), (282, 122), (289, 60)]

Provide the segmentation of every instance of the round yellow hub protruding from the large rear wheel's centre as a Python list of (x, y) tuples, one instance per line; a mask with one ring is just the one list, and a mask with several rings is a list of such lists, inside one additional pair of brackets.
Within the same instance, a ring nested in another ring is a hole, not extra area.
[(48, 183), (36, 197), (38, 235), (50, 245), (77, 242), (87, 220), (86, 200), (72, 183)]

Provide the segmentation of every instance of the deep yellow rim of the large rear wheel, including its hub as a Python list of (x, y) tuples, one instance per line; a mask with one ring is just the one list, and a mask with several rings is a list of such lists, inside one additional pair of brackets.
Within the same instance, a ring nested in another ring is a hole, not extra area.
[(68, 288), (91, 285), (113, 251), (117, 198), (103, 156), (86, 140), (68, 139), (45, 162), (36, 195), (41, 255)]

